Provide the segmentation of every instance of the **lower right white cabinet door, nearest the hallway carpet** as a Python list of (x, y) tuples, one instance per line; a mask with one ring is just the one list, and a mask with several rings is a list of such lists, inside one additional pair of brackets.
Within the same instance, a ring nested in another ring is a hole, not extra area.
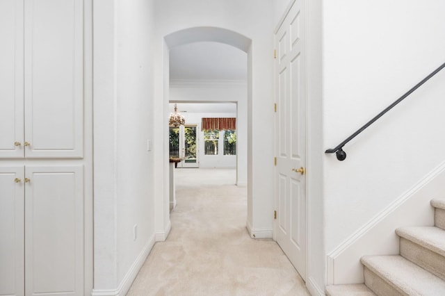
[(26, 295), (83, 295), (83, 167), (25, 176)]

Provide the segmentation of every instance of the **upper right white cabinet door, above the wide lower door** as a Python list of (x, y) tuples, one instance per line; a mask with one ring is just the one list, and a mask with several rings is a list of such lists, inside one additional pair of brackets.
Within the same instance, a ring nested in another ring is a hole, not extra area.
[(83, 0), (24, 2), (28, 158), (83, 157)]

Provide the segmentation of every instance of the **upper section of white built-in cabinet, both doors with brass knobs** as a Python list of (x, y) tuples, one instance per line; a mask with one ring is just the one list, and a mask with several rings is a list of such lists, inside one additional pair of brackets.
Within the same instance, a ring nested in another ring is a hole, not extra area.
[(0, 158), (83, 157), (83, 0), (0, 1)]

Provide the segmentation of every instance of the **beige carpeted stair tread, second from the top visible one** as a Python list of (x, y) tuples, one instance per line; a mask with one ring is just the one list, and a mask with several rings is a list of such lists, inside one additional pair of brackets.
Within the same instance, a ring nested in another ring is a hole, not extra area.
[(438, 227), (401, 227), (398, 236), (411, 240), (432, 252), (445, 256), (445, 230)]

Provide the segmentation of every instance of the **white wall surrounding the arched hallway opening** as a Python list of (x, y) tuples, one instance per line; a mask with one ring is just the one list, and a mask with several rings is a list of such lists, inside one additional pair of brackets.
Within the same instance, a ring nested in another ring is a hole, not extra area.
[[(156, 1), (156, 63), (155, 63), (155, 97), (160, 100), (164, 94), (168, 93), (163, 82), (168, 67), (163, 64), (164, 58), (168, 60), (165, 51), (164, 37), (182, 29), (193, 27), (217, 27), (225, 28), (239, 33), (250, 40), (248, 49), (248, 65), (251, 65), (248, 74), (252, 83), (252, 90), (248, 90), (248, 98), (251, 98), (250, 110), (248, 113), (248, 146), (262, 147), (262, 149), (252, 149), (248, 158), (248, 224), (250, 228), (257, 231), (257, 237), (271, 236), (273, 221), (273, 146), (270, 142), (272, 138), (273, 126), (270, 124), (273, 118), (273, 96), (272, 96), (272, 53), (273, 53), (273, 15), (272, 2), (246, 0), (246, 1)], [(197, 17), (199, 16), (199, 17)], [(204, 40), (202, 40), (204, 41)], [(168, 80), (167, 80), (168, 85)], [(167, 96), (168, 97), (168, 96)], [(164, 115), (155, 115), (155, 125), (167, 126), (165, 118), (168, 116), (168, 100), (165, 102), (155, 102), (156, 110), (164, 110)], [(250, 117), (249, 117), (250, 115)], [(156, 142), (165, 142), (166, 131), (159, 131), (155, 134)], [(161, 147), (156, 146), (156, 147)], [(163, 151), (156, 151), (156, 172), (168, 179), (168, 149), (165, 146)], [(270, 161), (267, 161), (270, 160)], [(156, 182), (157, 184), (158, 182)], [(161, 195), (168, 201), (168, 186), (155, 188), (156, 196)], [(165, 213), (166, 211), (166, 213)], [(168, 215), (168, 208), (156, 208), (156, 213), (163, 212)], [(163, 225), (156, 226), (156, 231), (165, 229), (165, 217), (158, 217), (158, 222), (163, 221)]]

